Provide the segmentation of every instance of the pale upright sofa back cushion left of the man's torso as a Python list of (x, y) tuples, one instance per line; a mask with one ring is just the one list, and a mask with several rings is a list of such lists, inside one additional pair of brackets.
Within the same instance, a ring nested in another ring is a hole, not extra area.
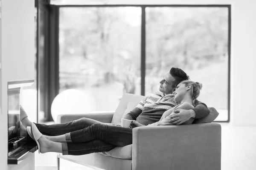
[(143, 99), (144, 96), (135, 94), (124, 94), (116, 108), (111, 123), (121, 125), (121, 119), (132, 111)]

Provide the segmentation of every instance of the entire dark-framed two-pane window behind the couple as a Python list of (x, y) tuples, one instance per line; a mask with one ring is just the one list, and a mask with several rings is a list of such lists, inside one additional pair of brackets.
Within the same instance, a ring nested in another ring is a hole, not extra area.
[(74, 89), (87, 111), (113, 111), (122, 94), (154, 93), (179, 67), (203, 84), (199, 100), (218, 110), (216, 121), (229, 121), (230, 6), (58, 10), (59, 93)]

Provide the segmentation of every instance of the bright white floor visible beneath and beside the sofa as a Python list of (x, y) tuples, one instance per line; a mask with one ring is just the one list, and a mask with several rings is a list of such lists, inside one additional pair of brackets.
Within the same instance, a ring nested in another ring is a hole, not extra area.
[[(239, 127), (221, 123), (222, 170), (256, 170), (256, 127)], [(57, 170), (55, 153), (35, 155), (35, 170)], [(71, 168), (72, 167), (72, 168)], [(92, 170), (70, 161), (61, 160), (60, 170)]]

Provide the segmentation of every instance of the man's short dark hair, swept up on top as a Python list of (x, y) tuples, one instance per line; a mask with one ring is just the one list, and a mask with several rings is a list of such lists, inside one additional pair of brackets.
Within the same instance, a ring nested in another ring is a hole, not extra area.
[(172, 87), (176, 87), (180, 82), (182, 82), (183, 80), (189, 80), (189, 76), (180, 68), (171, 68), (170, 72), (169, 72), (172, 77), (175, 78), (175, 82), (173, 82)]

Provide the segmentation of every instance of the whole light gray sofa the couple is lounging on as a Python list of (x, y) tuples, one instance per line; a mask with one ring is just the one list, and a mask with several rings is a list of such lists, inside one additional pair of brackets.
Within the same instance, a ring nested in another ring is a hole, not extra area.
[[(121, 118), (131, 111), (143, 96), (124, 94), (115, 112), (58, 115), (57, 123), (82, 117), (104, 123), (120, 124)], [(133, 144), (116, 147), (106, 153), (82, 156), (57, 155), (94, 169), (105, 170), (220, 170), (221, 125), (212, 122), (217, 116), (210, 109), (206, 119), (197, 124), (180, 126), (151, 126), (133, 129)]]

